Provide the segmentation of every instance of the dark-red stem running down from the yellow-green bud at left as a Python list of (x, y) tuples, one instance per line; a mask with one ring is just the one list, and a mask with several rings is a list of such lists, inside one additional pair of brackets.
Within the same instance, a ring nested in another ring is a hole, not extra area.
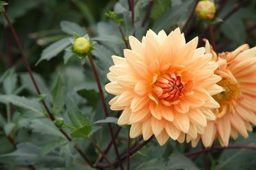
[[(100, 80), (99, 80), (99, 76), (98, 76), (98, 73), (97, 73), (97, 69), (96, 69), (96, 67), (95, 67), (95, 65), (93, 63), (92, 56), (90, 55), (90, 53), (88, 53), (88, 58), (90, 60), (90, 64), (92, 66), (93, 74), (94, 74), (95, 80), (97, 82), (97, 86), (98, 86), (98, 89), (99, 89), (100, 99), (101, 99), (101, 103), (102, 103), (103, 110), (104, 110), (104, 113), (105, 113), (105, 117), (108, 117), (109, 114), (108, 114), (108, 108), (107, 108), (107, 105), (106, 105), (105, 97), (104, 97), (103, 90), (102, 90), (102, 87), (101, 87), (101, 84), (100, 84)], [(118, 148), (117, 148), (117, 144), (116, 144), (116, 139), (115, 139), (115, 135), (114, 135), (114, 132), (113, 132), (113, 128), (112, 128), (110, 123), (108, 123), (108, 127), (109, 127), (109, 131), (110, 131), (110, 134), (111, 134), (112, 143), (113, 143), (114, 148), (115, 148), (115, 153), (116, 153), (116, 157), (118, 159), (118, 163), (119, 163), (121, 169), (124, 169), (122, 161), (120, 159), (120, 154), (118, 152)]]

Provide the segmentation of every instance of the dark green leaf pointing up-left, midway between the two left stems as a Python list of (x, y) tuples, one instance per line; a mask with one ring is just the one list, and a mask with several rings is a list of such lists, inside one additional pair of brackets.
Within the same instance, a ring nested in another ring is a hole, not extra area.
[(69, 96), (67, 97), (66, 105), (68, 117), (77, 129), (90, 124), (88, 118), (85, 115), (82, 115), (79, 108), (77, 108), (76, 104), (74, 103), (74, 101), (72, 101), (72, 99)]

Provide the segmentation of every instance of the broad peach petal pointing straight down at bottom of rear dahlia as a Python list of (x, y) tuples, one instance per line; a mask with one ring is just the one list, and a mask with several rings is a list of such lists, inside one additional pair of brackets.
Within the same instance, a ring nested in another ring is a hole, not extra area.
[(228, 146), (229, 136), (231, 132), (230, 120), (227, 116), (224, 116), (220, 118), (220, 120), (218, 120), (216, 126), (220, 137), (220, 143), (223, 146)]

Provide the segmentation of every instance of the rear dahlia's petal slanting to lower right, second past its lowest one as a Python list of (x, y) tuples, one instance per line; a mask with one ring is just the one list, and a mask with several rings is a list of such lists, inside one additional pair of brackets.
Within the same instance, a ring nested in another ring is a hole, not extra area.
[(236, 131), (238, 131), (244, 138), (248, 138), (248, 132), (246, 131), (243, 119), (237, 114), (229, 115), (229, 118), (232, 127), (234, 127), (234, 129), (236, 129)]

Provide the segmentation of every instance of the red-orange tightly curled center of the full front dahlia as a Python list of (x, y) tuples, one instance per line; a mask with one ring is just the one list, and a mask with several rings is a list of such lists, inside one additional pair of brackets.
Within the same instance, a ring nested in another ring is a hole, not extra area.
[(153, 91), (161, 99), (161, 102), (170, 106), (179, 103), (179, 97), (182, 97), (184, 82), (181, 75), (177, 73), (166, 73), (157, 77)]

